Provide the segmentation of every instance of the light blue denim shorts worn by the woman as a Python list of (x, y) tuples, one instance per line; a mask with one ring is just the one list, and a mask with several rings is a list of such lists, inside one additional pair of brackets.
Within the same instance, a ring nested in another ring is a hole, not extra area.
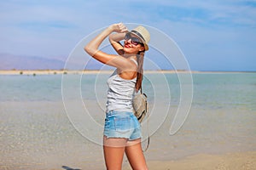
[(107, 138), (142, 138), (141, 125), (133, 112), (109, 111), (106, 113), (104, 135)]

